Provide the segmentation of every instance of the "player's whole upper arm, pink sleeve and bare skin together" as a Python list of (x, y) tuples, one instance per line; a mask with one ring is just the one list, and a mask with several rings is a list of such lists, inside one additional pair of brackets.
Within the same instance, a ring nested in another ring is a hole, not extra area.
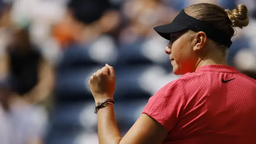
[(148, 100), (143, 114), (120, 144), (161, 144), (178, 122), (184, 108), (183, 87), (173, 81)]

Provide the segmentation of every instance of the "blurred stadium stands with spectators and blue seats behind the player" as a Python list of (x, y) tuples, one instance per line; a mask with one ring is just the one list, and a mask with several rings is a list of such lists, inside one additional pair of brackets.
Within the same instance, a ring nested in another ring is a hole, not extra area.
[(248, 6), (250, 24), (237, 29), (227, 60), (256, 79), (255, 0), (0, 0), (0, 144), (98, 144), (88, 80), (106, 63), (123, 136), (179, 77), (153, 27), (201, 2)]

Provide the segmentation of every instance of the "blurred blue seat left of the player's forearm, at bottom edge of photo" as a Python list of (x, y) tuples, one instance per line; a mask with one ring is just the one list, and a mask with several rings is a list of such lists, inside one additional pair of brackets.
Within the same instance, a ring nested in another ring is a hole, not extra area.
[[(87, 111), (91, 113), (88, 114)], [(73, 144), (80, 133), (88, 129), (96, 131), (96, 123), (90, 123), (96, 122), (90, 119), (92, 116), (96, 116), (94, 101), (56, 104), (50, 117), (46, 144)], [(86, 125), (87, 123), (90, 125)]]

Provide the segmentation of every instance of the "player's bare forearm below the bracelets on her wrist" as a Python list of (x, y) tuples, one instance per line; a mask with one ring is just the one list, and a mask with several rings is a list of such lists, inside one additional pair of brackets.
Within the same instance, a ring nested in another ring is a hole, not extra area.
[(119, 144), (122, 137), (116, 125), (114, 106), (108, 104), (98, 110), (97, 115), (99, 144)]

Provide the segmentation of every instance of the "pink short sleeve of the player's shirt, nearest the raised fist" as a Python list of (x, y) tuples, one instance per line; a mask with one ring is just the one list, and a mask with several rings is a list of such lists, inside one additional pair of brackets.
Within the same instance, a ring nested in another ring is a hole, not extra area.
[(158, 90), (148, 100), (142, 112), (154, 118), (168, 131), (172, 130), (184, 108), (183, 88), (178, 81), (174, 80)]

